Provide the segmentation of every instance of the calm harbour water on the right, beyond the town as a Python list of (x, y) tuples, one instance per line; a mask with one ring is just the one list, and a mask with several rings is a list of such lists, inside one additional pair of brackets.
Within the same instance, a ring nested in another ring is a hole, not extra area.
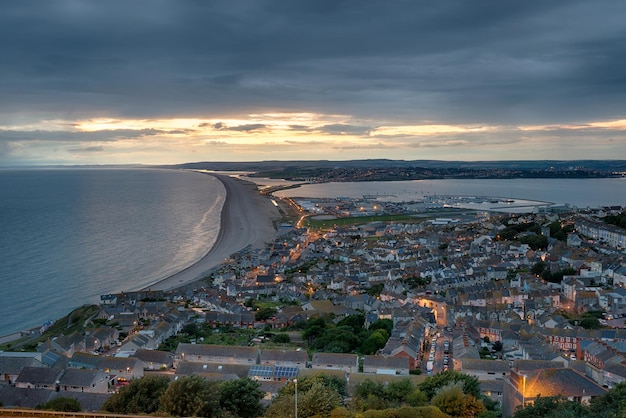
[(569, 204), (578, 208), (626, 206), (626, 178), (412, 180), (310, 184), (283, 190), (277, 196), (352, 197), (389, 195), (392, 201), (420, 200), (432, 195), (494, 196)]

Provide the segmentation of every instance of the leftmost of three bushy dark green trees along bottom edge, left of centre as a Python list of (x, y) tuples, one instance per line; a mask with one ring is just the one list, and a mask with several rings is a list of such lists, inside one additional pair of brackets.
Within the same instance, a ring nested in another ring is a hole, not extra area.
[(169, 384), (167, 376), (146, 376), (133, 380), (111, 395), (102, 409), (116, 414), (152, 414), (159, 410), (160, 397)]

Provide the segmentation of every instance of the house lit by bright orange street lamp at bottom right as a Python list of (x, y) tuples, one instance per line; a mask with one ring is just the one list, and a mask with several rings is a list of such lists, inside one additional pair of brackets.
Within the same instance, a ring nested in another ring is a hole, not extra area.
[(511, 369), (504, 381), (502, 416), (510, 417), (518, 405), (534, 402), (539, 396), (562, 396), (570, 401), (588, 404), (606, 390), (581, 373), (568, 368), (550, 368), (522, 372)]

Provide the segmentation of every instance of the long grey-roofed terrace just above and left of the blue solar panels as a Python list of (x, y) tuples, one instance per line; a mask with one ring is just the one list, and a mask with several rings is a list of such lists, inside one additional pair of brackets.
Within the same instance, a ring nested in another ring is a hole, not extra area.
[(259, 364), (257, 347), (180, 343), (174, 353), (174, 367), (181, 361), (192, 363)]

